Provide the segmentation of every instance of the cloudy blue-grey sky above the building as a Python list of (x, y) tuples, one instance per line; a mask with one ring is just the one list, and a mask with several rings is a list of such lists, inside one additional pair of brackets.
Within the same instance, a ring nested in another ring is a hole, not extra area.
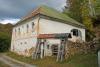
[(16, 23), (40, 5), (61, 11), (66, 0), (0, 0), (0, 23)]

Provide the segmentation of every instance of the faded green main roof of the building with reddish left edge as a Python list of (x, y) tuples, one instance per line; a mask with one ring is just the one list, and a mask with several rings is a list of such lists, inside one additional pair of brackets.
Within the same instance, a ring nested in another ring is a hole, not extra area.
[[(33, 17), (34, 15), (32, 15), (32, 14), (34, 12), (39, 11), (38, 14), (46, 15), (46, 16), (56, 18), (56, 19), (59, 19), (59, 20), (63, 20), (63, 21), (65, 21), (64, 23), (70, 23), (70, 24), (73, 24), (73, 25), (75, 24), (75, 25), (79, 25), (81, 27), (84, 27), (83, 24), (75, 21), (74, 19), (70, 18), (66, 14), (63, 14), (63, 13), (61, 13), (61, 12), (51, 8), (51, 7), (40, 6), (38, 9), (39, 10), (33, 11), (30, 15), (28, 15), (28, 17)], [(28, 17), (26, 16), (26, 18), (23, 18), (21, 21), (26, 20)], [(18, 23), (21, 23), (21, 21), (19, 21)]]

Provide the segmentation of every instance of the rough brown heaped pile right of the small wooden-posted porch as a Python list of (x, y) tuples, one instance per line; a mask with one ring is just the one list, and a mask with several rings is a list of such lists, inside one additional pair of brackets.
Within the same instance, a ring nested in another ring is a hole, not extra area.
[(71, 42), (66, 46), (66, 59), (75, 54), (95, 53), (100, 49), (100, 39), (95, 39), (91, 42)]

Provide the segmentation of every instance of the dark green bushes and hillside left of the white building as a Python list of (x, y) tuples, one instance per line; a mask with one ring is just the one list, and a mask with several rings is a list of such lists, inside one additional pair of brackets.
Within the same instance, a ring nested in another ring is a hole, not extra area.
[(0, 24), (0, 52), (10, 48), (12, 27), (12, 24)]

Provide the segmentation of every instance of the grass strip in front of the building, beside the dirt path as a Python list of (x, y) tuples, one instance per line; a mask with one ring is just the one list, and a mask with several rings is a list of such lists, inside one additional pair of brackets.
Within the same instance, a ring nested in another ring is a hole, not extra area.
[(38, 67), (98, 67), (96, 54), (75, 55), (64, 62), (56, 62), (54, 57), (32, 60), (31, 57), (24, 57), (12, 52), (6, 53), (8, 56)]

